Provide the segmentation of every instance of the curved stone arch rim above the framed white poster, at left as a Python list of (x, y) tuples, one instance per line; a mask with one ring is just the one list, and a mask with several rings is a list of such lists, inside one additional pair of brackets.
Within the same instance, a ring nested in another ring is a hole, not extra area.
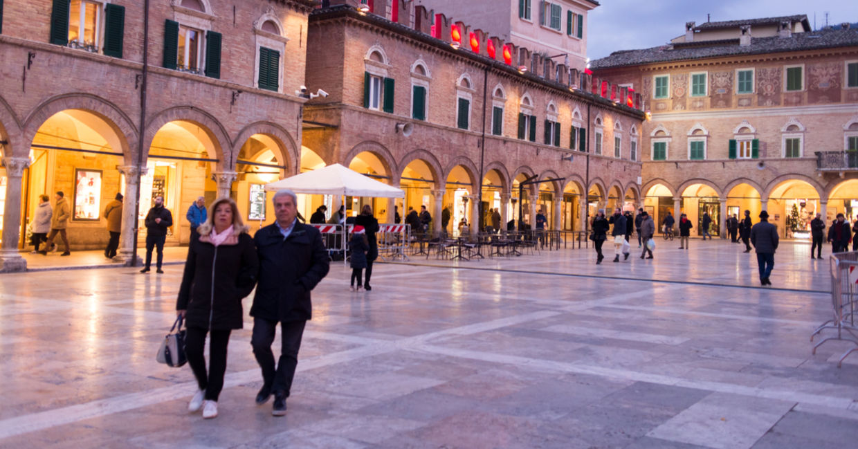
[(62, 94), (43, 101), (24, 119), (23, 142), (29, 145), (36, 137), (39, 127), (57, 112), (79, 109), (92, 112), (108, 124), (122, 142), (124, 161), (135, 162), (137, 151), (137, 128), (131, 118), (111, 101), (93, 94)]

